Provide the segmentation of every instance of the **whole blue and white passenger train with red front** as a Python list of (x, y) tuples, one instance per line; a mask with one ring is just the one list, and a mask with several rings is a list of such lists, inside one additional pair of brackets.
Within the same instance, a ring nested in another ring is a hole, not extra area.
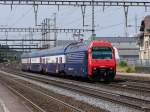
[(116, 75), (115, 51), (112, 44), (104, 40), (73, 42), (65, 46), (22, 54), (21, 69), (112, 81)]

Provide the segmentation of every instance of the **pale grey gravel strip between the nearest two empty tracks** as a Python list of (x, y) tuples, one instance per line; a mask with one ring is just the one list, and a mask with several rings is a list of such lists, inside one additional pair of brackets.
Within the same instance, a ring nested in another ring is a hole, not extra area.
[[(18, 78), (20, 79), (20, 77), (18, 77), (18, 76), (15, 76), (15, 77), (17, 79)], [(112, 112), (120, 112), (120, 111), (121, 112), (134, 112), (134, 111), (138, 112), (138, 110), (134, 110), (132, 108), (124, 107), (124, 106), (114, 104), (114, 103), (111, 103), (111, 102), (107, 102), (107, 101), (103, 101), (101, 99), (87, 97), (87, 96), (84, 96), (82, 94), (77, 94), (77, 93), (74, 93), (74, 92), (71, 92), (71, 91), (68, 91), (68, 90), (64, 90), (62, 88), (58, 88), (58, 87), (55, 87), (55, 86), (51, 86), (51, 85), (48, 85), (48, 84), (42, 84), (42, 83), (39, 83), (37, 81), (29, 80), (29, 79), (26, 79), (26, 78), (21, 78), (21, 80), (28, 81), (28, 82), (30, 82), (32, 84), (35, 84), (35, 85), (38, 85), (42, 88), (53, 91), (55, 94), (59, 93), (61, 95), (64, 95), (65, 97), (66, 96), (72, 97), (72, 99), (75, 102), (82, 101), (82, 103), (83, 102), (89, 103), (90, 105), (93, 105), (93, 106), (96, 106), (96, 107), (101, 107), (103, 109), (107, 109), (107, 110), (112, 111)], [(72, 102), (72, 100), (70, 100), (70, 103), (71, 102)], [(91, 107), (89, 109), (91, 109)]]

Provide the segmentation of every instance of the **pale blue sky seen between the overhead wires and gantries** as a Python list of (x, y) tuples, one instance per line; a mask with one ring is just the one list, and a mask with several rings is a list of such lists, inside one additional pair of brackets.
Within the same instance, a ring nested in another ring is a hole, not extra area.
[[(120, 0), (122, 1), (122, 0)], [(124, 0), (125, 1), (125, 0)], [(135, 1), (135, 0), (126, 0)], [(149, 1), (149, 0), (137, 0)], [(81, 7), (73, 6), (39, 6), (38, 24), (40, 25), (44, 18), (53, 18), (56, 13), (57, 28), (83, 28)], [(35, 27), (33, 6), (10, 6), (0, 5), (0, 27)], [(91, 7), (86, 7), (85, 28), (91, 29), (92, 18)], [(133, 36), (135, 30), (135, 17), (137, 17), (137, 29), (146, 15), (150, 14), (150, 8), (129, 7), (128, 13), (128, 34)], [(95, 29), (98, 37), (123, 37), (125, 36), (124, 28), (124, 8), (123, 7), (95, 7)], [(90, 38), (90, 33), (84, 33), (85, 38)], [(28, 34), (8, 33), (9, 38), (22, 38)], [(5, 38), (5, 33), (0, 33), (1, 38)], [(40, 38), (40, 33), (35, 33), (34, 37)], [(72, 39), (71, 34), (60, 33), (58, 39)]]

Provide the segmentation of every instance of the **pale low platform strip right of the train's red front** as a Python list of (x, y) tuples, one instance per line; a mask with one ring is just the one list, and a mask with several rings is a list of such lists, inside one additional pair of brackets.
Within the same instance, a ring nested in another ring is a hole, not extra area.
[(116, 78), (150, 81), (150, 74), (145, 74), (145, 73), (120, 73), (120, 72), (118, 72), (117, 75), (116, 75)]

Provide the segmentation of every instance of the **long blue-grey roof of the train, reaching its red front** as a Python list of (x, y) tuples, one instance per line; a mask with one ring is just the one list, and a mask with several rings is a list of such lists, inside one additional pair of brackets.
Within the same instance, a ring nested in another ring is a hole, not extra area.
[[(109, 42), (106, 41), (101, 41), (103, 44), (110, 45)], [(89, 43), (91, 41), (85, 41), (85, 42), (74, 42), (67, 44), (65, 46), (59, 46), (59, 47), (54, 47), (50, 49), (45, 49), (45, 50), (39, 50), (39, 51), (34, 51), (31, 53), (25, 53), (22, 55), (22, 58), (30, 58), (30, 57), (44, 57), (48, 55), (61, 55), (64, 53), (70, 53), (70, 52), (80, 52), (80, 51), (87, 51)], [(98, 41), (92, 41), (92, 44), (97, 44)]]

